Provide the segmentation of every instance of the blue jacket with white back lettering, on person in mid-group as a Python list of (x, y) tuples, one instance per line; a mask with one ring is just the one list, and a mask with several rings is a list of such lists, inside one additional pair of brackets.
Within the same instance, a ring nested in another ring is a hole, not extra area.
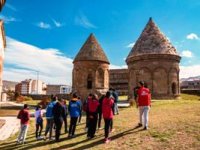
[(81, 114), (81, 103), (77, 99), (72, 99), (68, 106), (69, 114), (71, 117), (79, 117)]

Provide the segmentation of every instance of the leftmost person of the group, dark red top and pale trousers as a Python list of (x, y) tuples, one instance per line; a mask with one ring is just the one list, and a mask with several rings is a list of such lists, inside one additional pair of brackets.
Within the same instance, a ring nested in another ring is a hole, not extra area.
[(17, 138), (17, 143), (23, 143), (26, 139), (26, 134), (28, 130), (29, 120), (30, 120), (30, 114), (28, 111), (28, 105), (24, 104), (24, 108), (19, 111), (17, 118), (20, 119), (21, 122), (21, 128), (20, 133)]

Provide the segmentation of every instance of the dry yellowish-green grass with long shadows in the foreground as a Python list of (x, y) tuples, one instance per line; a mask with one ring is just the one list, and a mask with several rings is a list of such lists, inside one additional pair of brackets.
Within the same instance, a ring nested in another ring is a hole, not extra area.
[(103, 130), (94, 139), (87, 140), (85, 124), (78, 125), (75, 138), (68, 139), (63, 134), (61, 142), (55, 143), (35, 140), (32, 119), (25, 145), (16, 145), (15, 135), (1, 142), (0, 149), (200, 149), (199, 96), (182, 95), (180, 100), (154, 101), (150, 110), (150, 129), (135, 129), (137, 123), (138, 110), (123, 108), (114, 118), (116, 130), (111, 133), (109, 144), (103, 143)]

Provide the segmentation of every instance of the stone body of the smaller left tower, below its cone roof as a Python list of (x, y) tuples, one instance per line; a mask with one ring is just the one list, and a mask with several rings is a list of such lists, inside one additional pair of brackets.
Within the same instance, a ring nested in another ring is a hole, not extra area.
[(107, 91), (109, 88), (109, 65), (100, 61), (74, 63), (72, 89), (85, 99), (89, 93)]

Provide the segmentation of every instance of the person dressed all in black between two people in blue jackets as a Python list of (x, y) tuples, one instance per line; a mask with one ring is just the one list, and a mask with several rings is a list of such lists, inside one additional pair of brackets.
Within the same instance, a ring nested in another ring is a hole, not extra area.
[(65, 110), (62, 106), (62, 99), (59, 99), (58, 102), (53, 107), (53, 118), (56, 127), (55, 137), (57, 142), (60, 140), (60, 131), (62, 128), (64, 117), (65, 117)]

